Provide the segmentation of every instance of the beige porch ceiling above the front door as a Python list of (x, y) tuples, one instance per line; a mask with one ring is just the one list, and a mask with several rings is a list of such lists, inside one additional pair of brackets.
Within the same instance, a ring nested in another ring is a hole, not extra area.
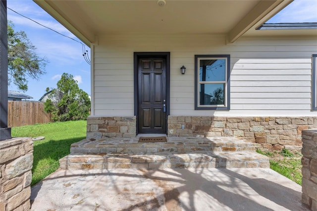
[(113, 33), (225, 34), (234, 42), (292, 0), (35, 0), (86, 44)]

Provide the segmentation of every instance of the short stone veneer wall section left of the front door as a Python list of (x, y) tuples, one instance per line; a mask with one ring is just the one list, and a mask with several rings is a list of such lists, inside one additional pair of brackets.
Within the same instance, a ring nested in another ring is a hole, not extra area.
[(87, 138), (136, 136), (136, 117), (88, 117)]

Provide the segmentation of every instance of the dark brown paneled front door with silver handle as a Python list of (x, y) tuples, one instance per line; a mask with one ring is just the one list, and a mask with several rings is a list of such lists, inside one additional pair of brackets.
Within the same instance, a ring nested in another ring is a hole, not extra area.
[(166, 133), (166, 58), (138, 58), (139, 133)]

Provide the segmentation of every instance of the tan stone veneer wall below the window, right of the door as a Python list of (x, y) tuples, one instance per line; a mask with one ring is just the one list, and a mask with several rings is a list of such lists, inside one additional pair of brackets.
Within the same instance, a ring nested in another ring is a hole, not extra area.
[(317, 117), (202, 117), (169, 116), (168, 136), (236, 136), (256, 148), (300, 150), (302, 130), (317, 128)]

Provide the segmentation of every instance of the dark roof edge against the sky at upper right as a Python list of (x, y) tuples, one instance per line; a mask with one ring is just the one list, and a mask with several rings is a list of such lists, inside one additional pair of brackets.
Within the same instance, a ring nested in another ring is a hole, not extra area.
[(317, 29), (317, 23), (264, 23), (257, 30)]

